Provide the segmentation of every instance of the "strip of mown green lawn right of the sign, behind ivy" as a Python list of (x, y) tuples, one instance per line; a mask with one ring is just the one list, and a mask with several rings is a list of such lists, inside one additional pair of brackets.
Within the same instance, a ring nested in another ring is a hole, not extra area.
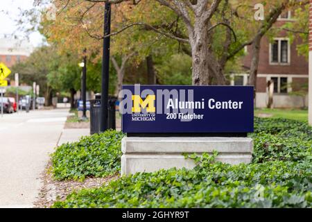
[(294, 119), (298, 121), (308, 121), (308, 110), (295, 109), (256, 109), (254, 115), (272, 114), (270, 118)]

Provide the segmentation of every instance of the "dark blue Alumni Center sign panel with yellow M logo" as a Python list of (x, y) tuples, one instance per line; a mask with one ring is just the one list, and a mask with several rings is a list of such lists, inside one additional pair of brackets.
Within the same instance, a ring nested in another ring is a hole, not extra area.
[(250, 133), (251, 86), (123, 85), (124, 133)]

